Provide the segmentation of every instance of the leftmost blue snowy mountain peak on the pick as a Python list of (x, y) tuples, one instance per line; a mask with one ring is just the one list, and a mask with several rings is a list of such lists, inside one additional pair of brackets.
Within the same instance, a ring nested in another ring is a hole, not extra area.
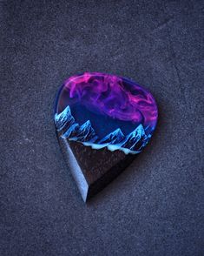
[(65, 127), (70, 127), (75, 124), (69, 105), (60, 114), (55, 115), (56, 129), (62, 131)]

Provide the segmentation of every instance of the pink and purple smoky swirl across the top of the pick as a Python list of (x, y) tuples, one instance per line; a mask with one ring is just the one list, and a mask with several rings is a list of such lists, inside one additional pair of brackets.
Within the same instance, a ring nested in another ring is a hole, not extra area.
[(89, 111), (144, 126), (156, 125), (157, 107), (150, 92), (114, 75), (84, 73), (69, 77), (64, 86), (71, 104), (80, 102)]

